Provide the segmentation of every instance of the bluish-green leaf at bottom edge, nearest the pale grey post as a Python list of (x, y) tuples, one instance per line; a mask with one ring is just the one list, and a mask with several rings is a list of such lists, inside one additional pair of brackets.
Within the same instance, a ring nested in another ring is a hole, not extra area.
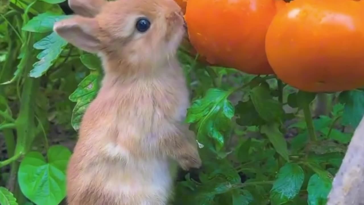
[(325, 205), (327, 196), (331, 190), (332, 181), (329, 178), (322, 178), (318, 174), (313, 174), (307, 185), (308, 204)]

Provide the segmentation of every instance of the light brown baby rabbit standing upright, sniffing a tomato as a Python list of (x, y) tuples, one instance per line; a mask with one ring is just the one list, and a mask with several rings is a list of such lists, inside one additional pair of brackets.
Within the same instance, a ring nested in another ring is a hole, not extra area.
[[(53, 30), (97, 54), (104, 77), (67, 166), (69, 205), (166, 205), (178, 165), (198, 169), (198, 143), (177, 49), (186, 35), (174, 0), (69, 0)], [(90, 85), (92, 86), (92, 85)]]

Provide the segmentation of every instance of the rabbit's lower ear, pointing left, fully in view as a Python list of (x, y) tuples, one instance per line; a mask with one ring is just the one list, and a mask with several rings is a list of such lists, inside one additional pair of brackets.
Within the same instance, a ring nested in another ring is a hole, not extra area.
[(97, 53), (101, 42), (97, 37), (99, 26), (96, 19), (74, 16), (54, 24), (53, 30), (79, 49)]

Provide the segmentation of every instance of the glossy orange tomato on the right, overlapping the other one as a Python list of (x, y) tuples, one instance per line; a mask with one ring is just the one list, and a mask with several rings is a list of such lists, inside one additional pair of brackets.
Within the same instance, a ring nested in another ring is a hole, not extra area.
[(293, 0), (274, 17), (266, 35), (277, 76), (308, 92), (364, 86), (363, 1)]

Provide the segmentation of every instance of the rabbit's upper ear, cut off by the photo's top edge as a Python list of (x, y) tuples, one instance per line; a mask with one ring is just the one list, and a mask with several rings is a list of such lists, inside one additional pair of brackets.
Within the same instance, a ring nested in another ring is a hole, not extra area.
[(106, 0), (68, 0), (68, 5), (77, 15), (94, 17), (99, 12)]

